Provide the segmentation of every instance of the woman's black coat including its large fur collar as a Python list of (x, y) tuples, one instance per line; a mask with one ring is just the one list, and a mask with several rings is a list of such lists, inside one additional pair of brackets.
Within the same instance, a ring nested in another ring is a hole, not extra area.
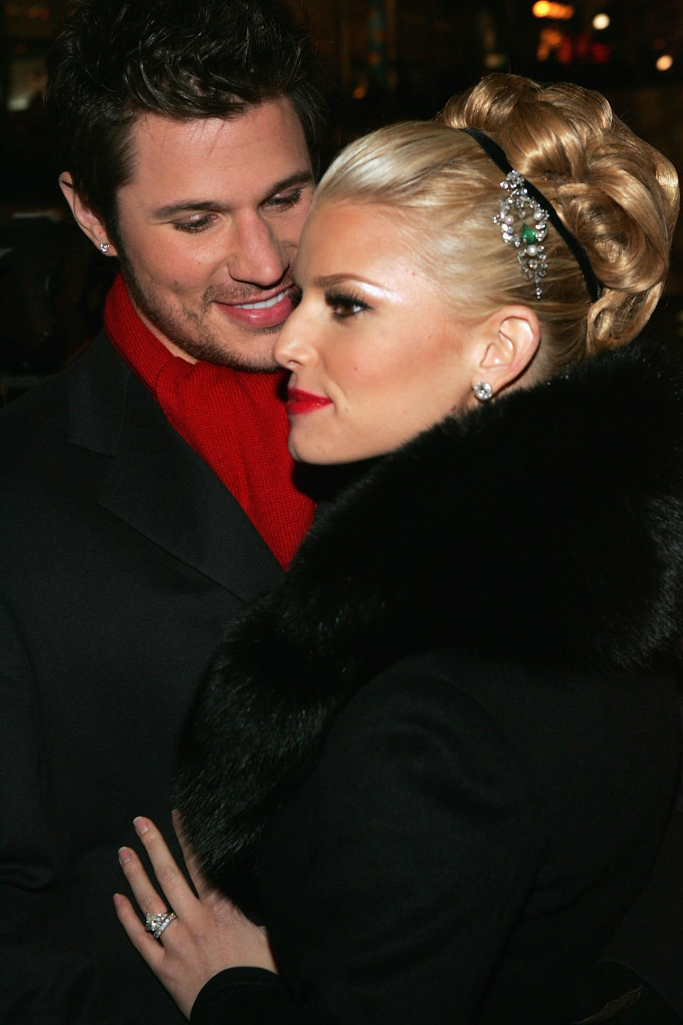
[(197, 1022), (549, 1023), (643, 887), (679, 770), (683, 360), (586, 362), (369, 468), (233, 630), (187, 836), (281, 979)]

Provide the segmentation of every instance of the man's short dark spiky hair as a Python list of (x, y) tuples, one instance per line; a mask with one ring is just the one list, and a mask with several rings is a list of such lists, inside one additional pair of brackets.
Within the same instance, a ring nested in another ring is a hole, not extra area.
[(48, 57), (58, 170), (116, 241), (138, 117), (233, 118), (285, 96), (314, 154), (321, 81), (309, 35), (270, 0), (78, 0)]

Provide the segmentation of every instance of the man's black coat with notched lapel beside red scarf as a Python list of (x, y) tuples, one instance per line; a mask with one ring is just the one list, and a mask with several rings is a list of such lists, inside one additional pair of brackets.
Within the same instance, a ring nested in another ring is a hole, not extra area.
[(104, 336), (0, 428), (0, 1021), (181, 1021), (112, 894), (216, 638), (280, 567)]

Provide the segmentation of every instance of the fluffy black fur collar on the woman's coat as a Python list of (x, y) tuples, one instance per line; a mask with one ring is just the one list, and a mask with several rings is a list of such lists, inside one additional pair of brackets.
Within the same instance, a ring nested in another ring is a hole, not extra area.
[(677, 655), (682, 614), (677, 348), (634, 343), (438, 424), (343, 494), (219, 650), (179, 783), (200, 864), (253, 911), (265, 817), (397, 658), (635, 668)]

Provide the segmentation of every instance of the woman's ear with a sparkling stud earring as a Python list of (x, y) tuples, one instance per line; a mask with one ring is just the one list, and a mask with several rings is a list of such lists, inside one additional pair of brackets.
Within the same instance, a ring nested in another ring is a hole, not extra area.
[(520, 380), (530, 367), (540, 341), (541, 324), (529, 306), (497, 310), (485, 322), (478, 380), (490, 384), (494, 395)]

